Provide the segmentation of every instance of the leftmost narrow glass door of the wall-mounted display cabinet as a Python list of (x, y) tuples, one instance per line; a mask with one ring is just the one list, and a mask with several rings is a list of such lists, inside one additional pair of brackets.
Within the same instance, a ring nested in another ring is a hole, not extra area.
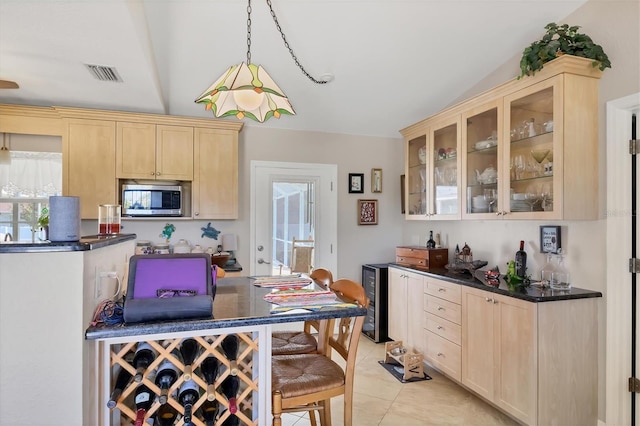
[(426, 219), (427, 214), (427, 136), (406, 142), (405, 218)]

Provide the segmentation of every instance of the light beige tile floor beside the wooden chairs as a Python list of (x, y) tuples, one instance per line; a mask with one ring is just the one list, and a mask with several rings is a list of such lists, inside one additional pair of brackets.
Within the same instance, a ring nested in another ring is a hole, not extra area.
[[(432, 369), (433, 379), (401, 383), (378, 361), (384, 359), (384, 343), (360, 339), (356, 361), (354, 426), (411, 425), (516, 425), (517, 423), (469, 391)], [(343, 425), (343, 399), (331, 403), (333, 426)], [(310, 424), (303, 413), (283, 415), (283, 426)]]

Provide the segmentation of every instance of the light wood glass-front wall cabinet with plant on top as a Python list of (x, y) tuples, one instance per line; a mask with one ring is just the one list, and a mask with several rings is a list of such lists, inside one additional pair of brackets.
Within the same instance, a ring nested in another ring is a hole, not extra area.
[[(591, 60), (564, 55), (534, 76), (511, 80), (401, 130), (406, 218), (597, 219), (601, 75)], [(453, 157), (448, 152), (456, 119), (460, 144)], [(424, 172), (416, 164), (422, 158), (416, 141), (426, 147)], [(455, 204), (454, 190), (457, 214), (447, 213)]]

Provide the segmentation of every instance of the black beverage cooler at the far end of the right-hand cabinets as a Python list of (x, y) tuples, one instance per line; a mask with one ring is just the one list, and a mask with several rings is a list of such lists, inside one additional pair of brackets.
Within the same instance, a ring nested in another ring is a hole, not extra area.
[(362, 265), (362, 286), (371, 300), (362, 334), (374, 342), (386, 342), (389, 299), (389, 265), (387, 263)]

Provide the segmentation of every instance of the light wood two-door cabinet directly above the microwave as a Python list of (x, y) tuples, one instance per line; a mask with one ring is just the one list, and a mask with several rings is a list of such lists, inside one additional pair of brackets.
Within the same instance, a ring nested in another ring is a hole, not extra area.
[(193, 128), (117, 123), (119, 179), (193, 180)]

